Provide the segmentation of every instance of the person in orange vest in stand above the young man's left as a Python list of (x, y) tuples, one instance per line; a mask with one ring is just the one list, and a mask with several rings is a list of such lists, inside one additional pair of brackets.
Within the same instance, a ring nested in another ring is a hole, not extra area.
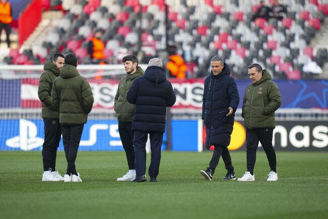
[(101, 40), (101, 36), (102, 29), (97, 28), (88, 43), (88, 54), (93, 64), (99, 64), (100, 62), (103, 62), (105, 58), (105, 45)]

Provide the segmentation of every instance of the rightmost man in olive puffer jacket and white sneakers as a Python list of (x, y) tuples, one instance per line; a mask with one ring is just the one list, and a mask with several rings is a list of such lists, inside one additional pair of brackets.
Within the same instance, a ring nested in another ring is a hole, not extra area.
[(276, 152), (272, 146), (272, 134), (276, 127), (275, 111), (281, 105), (277, 84), (270, 73), (259, 64), (248, 66), (248, 76), (252, 83), (245, 89), (242, 117), (246, 127), (247, 171), (238, 181), (255, 181), (254, 165), (258, 142), (261, 143), (269, 161), (270, 172), (267, 181), (277, 181)]

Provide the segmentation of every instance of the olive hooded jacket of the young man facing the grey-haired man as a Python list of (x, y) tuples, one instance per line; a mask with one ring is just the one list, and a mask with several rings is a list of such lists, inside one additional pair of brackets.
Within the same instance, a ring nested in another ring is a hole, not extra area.
[(114, 98), (114, 110), (117, 113), (117, 119), (119, 122), (132, 122), (134, 113), (134, 104), (127, 101), (127, 92), (129, 91), (133, 80), (143, 75), (143, 70), (140, 66), (137, 67), (137, 71), (133, 74), (126, 74), (121, 79), (115, 98)]

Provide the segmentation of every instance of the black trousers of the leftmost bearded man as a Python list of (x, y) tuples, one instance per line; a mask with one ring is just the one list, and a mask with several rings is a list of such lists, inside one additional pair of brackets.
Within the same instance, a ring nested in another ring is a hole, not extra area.
[(57, 148), (61, 141), (61, 124), (58, 118), (44, 118), (44, 142), (42, 146), (43, 170), (56, 171)]

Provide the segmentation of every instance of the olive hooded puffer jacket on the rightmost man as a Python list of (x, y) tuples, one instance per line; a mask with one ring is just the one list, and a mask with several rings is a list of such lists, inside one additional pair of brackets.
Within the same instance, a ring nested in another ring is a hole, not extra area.
[(242, 117), (247, 128), (275, 128), (275, 111), (281, 105), (277, 84), (270, 73), (263, 69), (262, 78), (245, 89)]

